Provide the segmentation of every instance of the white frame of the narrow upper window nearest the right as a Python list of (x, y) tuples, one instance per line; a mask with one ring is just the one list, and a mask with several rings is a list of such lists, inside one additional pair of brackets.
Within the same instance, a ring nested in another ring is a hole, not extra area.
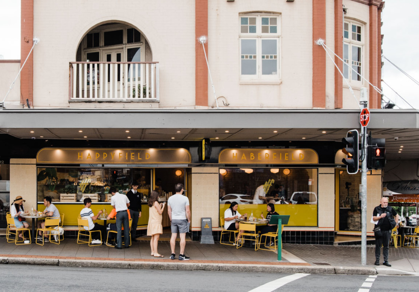
[[(361, 22), (351, 20), (351, 19), (345, 19), (344, 24), (348, 24), (348, 37), (345, 37), (345, 30), (343, 25), (343, 72), (345, 72), (345, 67), (348, 68), (348, 74), (347, 76), (344, 75), (344, 78), (348, 80), (349, 83), (352, 83), (354, 85), (361, 86), (364, 82), (363, 79), (352, 70), (353, 62), (357, 62), (357, 60), (352, 60), (352, 48), (361, 48), (361, 75), (364, 76), (365, 74), (365, 46), (364, 46), (364, 37), (365, 37), (365, 26)], [(358, 26), (361, 28), (361, 40), (352, 39), (352, 26)], [(344, 58), (344, 51), (345, 51), (345, 45), (348, 47), (348, 59)], [(348, 64), (349, 67), (347, 65)], [(353, 79), (353, 78), (359, 78), (360, 80)]]

